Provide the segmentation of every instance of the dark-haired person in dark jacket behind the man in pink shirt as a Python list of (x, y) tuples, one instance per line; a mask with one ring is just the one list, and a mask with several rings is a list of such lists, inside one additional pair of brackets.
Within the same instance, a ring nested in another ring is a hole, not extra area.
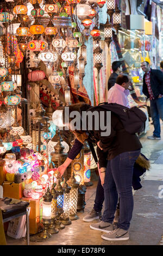
[(114, 86), (117, 76), (122, 73), (122, 63), (119, 61), (113, 62), (111, 65), (113, 73), (110, 75), (108, 80), (108, 90)]

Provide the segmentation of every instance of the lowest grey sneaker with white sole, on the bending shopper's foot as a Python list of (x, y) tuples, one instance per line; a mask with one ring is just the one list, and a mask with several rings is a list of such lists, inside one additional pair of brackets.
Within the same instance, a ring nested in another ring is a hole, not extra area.
[(112, 230), (109, 234), (103, 234), (102, 239), (109, 241), (119, 241), (119, 240), (128, 240), (129, 231), (122, 228), (117, 228)]

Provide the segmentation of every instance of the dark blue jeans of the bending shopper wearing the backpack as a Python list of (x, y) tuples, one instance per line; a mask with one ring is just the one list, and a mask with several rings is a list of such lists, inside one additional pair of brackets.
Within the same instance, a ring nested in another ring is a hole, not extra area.
[(106, 166), (104, 197), (105, 210), (102, 221), (112, 223), (120, 198), (120, 219), (118, 228), (129, 229), (133, 214), (134, 200), (132, 192), (133, 167), (140, 150), (125, 152), (109, 160)]

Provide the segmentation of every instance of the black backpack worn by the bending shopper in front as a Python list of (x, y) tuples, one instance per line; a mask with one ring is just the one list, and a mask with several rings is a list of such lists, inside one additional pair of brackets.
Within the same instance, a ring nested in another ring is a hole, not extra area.
[(145, 121), (147, 120), (146, 114), (138, 107), (128, 108), (117, 103), (103, 102), (92, 108), (97, 107), (104, 108), (107, 111), (111, 111), (118, 115), (124, 129), (130, 134), (141, 132), (145, 126)]

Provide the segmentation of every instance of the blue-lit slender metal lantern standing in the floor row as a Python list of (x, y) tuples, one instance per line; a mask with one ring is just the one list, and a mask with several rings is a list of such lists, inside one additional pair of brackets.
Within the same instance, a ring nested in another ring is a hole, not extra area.
[(61, 223), (60, 216), (61, 216), (61, 214), (64, 213), (63, 208), (64, 208), (64, 191), (65, 191), (65, 189), (62, 188), (59, 179), (58, 179), (58, 184), (55, 187), (55, 190), (58, 193), (58, 197), (57, 197), (57, 213), (58, 213), (58, 216), (57, 216), (57, 221), (55, 222), (55, 227), (58, 228), (58, 229), (63, 229), (63, 228), (65, 228), (65, 225)]

